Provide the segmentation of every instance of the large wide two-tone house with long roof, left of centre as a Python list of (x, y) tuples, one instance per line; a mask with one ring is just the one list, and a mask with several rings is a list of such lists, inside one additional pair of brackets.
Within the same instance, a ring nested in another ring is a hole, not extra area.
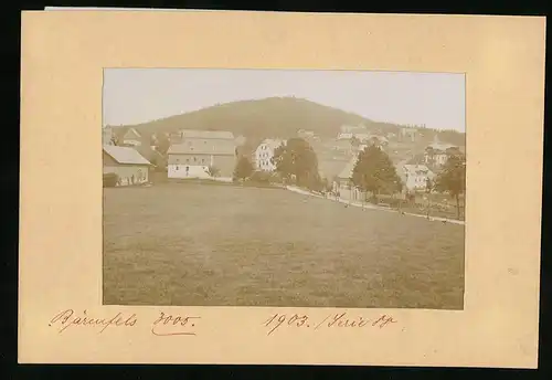
[(183, 129), (179, 144), (168, 150), (168, 177), (211, 178), (216, 169), (221, 180), (232, 180), (236, 160), (236, 144), (231, 131)]

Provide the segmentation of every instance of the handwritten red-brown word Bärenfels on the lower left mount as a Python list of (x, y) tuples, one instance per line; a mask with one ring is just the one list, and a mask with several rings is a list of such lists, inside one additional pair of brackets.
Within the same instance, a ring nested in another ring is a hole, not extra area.
[(137, 320), (136, 314), (125, 316), (121, 313), (117, 313), (117, 315), (110, 318), (94, 318), (88, 316), (87, 310), (83, 310), (82, 314), (77, 314), (73, 309), (66, 309), (53, 317), (50, 320), (49, 326), (59, 327), (60, 334), (65, 331), (67, 328), (75, 326), (97, 328), (98, 332), (104, 332), (110, 326), (132, 327), (136, 325)]

